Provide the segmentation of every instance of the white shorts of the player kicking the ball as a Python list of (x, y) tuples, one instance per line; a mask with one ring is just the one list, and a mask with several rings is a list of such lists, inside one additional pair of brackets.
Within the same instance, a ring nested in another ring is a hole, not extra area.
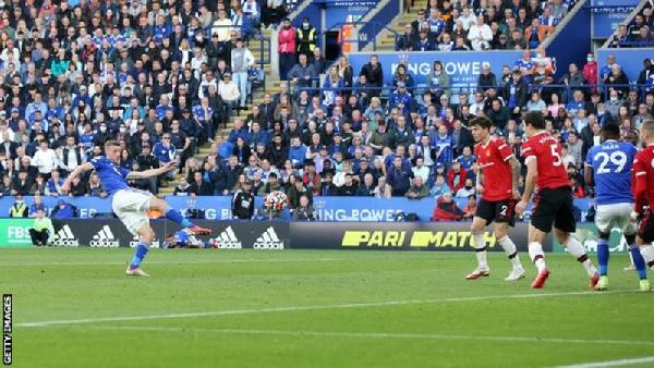
[(121, 189), (113, 195), (111, 200), (113, 213), (118, 216), (132, 235), (137, 235), (138, 229), (149, 223), (147, 210), (152, 197), (153, 194), (149, 192), (133, 188)]

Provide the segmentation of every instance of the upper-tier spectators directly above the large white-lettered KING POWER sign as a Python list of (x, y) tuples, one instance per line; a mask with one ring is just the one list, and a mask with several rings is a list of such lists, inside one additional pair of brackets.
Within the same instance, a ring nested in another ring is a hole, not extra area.
[(429, 0), (404, 26), (398, 51), (536, 49), (574, 5), (572, 0)]

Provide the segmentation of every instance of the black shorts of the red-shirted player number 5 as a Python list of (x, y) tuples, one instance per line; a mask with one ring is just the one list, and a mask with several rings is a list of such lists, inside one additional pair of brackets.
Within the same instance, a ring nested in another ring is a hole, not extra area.
[(555, 229), (576, 232), (573, 201), (569, 186), (540, 189), (534, 198), (531, 224), (545, 233), (552, 231), (553, 223)]

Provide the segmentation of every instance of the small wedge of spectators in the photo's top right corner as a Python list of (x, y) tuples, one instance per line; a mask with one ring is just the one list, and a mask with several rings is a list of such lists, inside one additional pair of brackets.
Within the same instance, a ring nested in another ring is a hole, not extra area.
[(654, 1), (645, 1), (642, 10), (629, 24), (620, 24), (608, 40), (610, 48), (654, 46)]

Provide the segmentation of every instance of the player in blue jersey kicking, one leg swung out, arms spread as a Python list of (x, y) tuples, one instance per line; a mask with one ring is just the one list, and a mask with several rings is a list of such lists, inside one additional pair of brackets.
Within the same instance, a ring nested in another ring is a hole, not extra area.
[(179, 211), (168, 206), (165, 200), (157, 198), (152, 193), (134, 189), (128, 185), (128, 180), (155, 177), (174, 170), (177, 167), (174, 161), (168, 162), (159, 169), (145, 171), (125, 170), (118, 165), (121, 157), (121, 148), (116, 140), (107, 140), (105, 144), (105, 155), (95, 157), (90, 161), (78, 165), (71, 172), (61, 188), (68, 192), (74, 177), (95, 169), (107, 194), (111, 197), (113, 212), (133, 235), (141, 237), (134, 257), (128, 267), (128, 275), (148, 275), (141, 269), (141, 262), (155, 238), (155, 232), (150, 228), (147, 217), (148, 210), (155, 209), (161, 211), (161, 213), (166, 213), (167, 219), (184, 229), (189, 229), (194, 234), (209, 234), (211, 232), (208, 229), (194, 225), (191, 221), (184, 219)]

